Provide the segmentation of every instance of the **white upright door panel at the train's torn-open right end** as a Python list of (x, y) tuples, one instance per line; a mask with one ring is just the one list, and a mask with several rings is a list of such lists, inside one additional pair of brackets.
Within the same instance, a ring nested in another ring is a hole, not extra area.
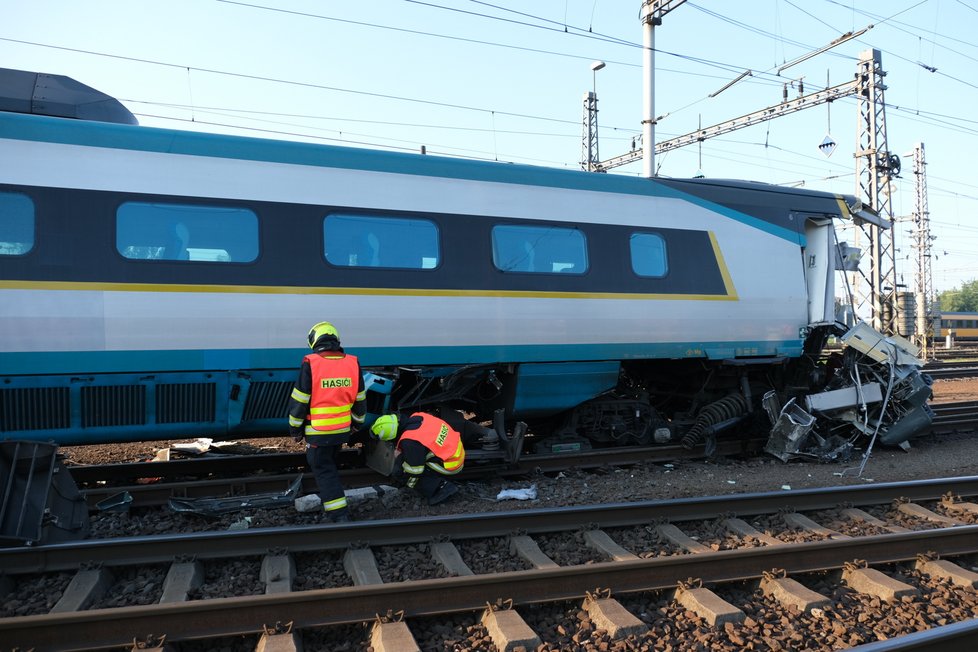
[(835, 322), (835, 227), (825, 215), (795, 215), (805, 220), (802, 259), (808, 288), (808, 323)]

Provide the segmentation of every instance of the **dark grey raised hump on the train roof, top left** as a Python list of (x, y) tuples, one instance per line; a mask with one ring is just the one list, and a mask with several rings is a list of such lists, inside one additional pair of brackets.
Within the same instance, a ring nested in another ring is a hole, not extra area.
[(119, 100), (71, 77), (0, 68), (0, 111), (139, 124)]

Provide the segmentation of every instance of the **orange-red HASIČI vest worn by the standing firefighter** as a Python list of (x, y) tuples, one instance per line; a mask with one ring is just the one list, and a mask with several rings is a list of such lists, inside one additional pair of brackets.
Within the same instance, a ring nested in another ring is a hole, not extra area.
[(360, 389), (356, 356), (324, 351), (310, 353), (306, 360), (312, 372), (306, 436), (345, 435), (350, 432), (350, 412)]

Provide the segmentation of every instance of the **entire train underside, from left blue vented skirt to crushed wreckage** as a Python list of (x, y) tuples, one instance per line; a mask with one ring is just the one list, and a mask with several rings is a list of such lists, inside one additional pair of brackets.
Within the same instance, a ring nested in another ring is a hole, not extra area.
[[(833, 341), (836, 346), (826, 348)], [(866, 325), (812, 329), (802, 355), (368, 369), (367, 411), (457, 410), (527, 453), (703, 446), (769, 436), (766, 450), (833, 460), (927, 431), (918, 351)], [(293, 369), (6, 377), (0, 436), (62, 445), (282, 434)]]

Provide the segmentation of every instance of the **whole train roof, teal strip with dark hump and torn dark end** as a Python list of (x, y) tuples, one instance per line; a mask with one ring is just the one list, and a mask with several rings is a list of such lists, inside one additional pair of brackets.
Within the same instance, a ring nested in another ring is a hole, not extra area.
[[(9, 83), (8, 83), (9, 82)], [(801, 242), (804, 219), (793, 214), (879, 220), (861, 207), (854, 197), (829, 192), (786, 188), (772, 184), (727, 179), (669, 179), (600, 174), (541, 166), (451, 158), (419, 153), (389, 152), (286, 140), (181, 131), (133, 126), (137, 121), (115, 99), (68, 77), (0, 69), (0, 137), (39, 142), (57, 142), (90, 147), (141, 150), (192, 156), (266, 161), (294, 165), (337, 167), (375, 172), (434, 176), (460, 180), (489, 181), (519, 185), (549, 186), (630, 195), (677, 197), (769, 233)], [(34, 98), (44, 88), (43, 102)], [(62, 92), (56, 93), (54, 89)], [(30, 93), (28, 93), (30, 90)], [(27, 100), (27, 96), (30, 100)], [(61, 101), (57, 101), (58, 98)], [(25, 110), (30, 104), (30, 111)], [(117, 106), (123, 113), (115, 112)], [(37, 108), (41, 110), (34, 110)], [(71, 108), (74, 107), (74, 108)], [(63, 120), (20, 113), (83, 118)], [(109, 119), (114, 115), (117, 119)], [(130, 116), (130, 120), (125, 116)], [(97, 120), (98, 122), (87, 122)], [(114, 124), (107, 124), (112, 122)], [(888, 223), (887, 223), (888, 224)]]

